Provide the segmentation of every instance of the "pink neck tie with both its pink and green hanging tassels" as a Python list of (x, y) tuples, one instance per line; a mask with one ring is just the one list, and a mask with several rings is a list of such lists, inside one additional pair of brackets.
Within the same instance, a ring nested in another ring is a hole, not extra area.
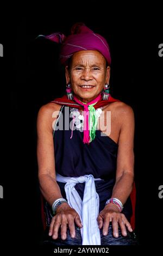
[(93, 106), (101, 99), (102, 95), (99, 94), (96, 97), (96, 99), (87, 103), (83, 103), (80, 100), (78, 100), (76, 96), (74, 96), (74, 101), (84, 106), (84, 143), (89, 144), (96, 137), (96, 126), (98, 123), (98, 116)]

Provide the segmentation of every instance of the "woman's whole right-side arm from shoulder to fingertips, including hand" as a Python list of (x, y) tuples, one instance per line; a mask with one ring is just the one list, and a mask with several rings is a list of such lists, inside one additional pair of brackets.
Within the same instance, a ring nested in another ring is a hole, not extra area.
[[(117, 110), (118, 119), (121, 123), (118, 140), (116, 182), (112, 196), (126, 203), (134, 181), (134, 113), (133, 109), (124, 104)], [(122, 235), (126, 236), (126, 226), (132, 231), (130, 223), (123, 214), (120, 214), (115, 204), (109, 203), (98, 216), (99, 228), (103, 227), (103, 234), (108, 234), (109, 222), (112, 222), (113, 235), (118, 237), (118, 224)]]

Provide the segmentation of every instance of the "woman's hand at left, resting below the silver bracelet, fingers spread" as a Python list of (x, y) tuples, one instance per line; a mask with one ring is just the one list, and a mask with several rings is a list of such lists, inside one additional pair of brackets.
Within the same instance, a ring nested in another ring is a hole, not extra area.
[(56, 215), (52, 218), (52, 222), (49, 228), (49, 236), (52, 235), (53, 239), (58, 238), (58, 230), (61, 227), (61, 239), (65, 240), (67, 235), (67, 224), (70, 229), (70, 235), (72, 238), (76, 236), (74, 222), (79, 228), (82, 228), (82, 222), (77, 214), (76, 210), (70, 207), (67, 203), (62, 203), (58, 206)]

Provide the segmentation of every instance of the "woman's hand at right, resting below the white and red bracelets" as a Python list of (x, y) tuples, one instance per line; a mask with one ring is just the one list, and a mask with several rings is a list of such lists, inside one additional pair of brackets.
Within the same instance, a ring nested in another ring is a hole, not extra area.
[(105, 205), (105, 208), (99, 213), (97, 217), (98, 227), (103, 227), (103, 235), (108, 235), (109, 223), (112, 222), (112, 230), (114, 237), (118, 237), (118, 225), (121, 227), (122, 235), (127, 236), (126, 227), (130, 232), (133, 231), (130, 223), (124, 214), (121, 214), (115, 204), (109, 203)]

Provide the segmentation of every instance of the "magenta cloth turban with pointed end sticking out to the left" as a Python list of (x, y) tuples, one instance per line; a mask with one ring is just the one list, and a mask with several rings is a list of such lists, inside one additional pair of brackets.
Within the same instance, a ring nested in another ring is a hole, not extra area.
[(66, 60), (73, 53), (78, 51), (96, 50), (99, 51), (111, 64), (109, 45), (103, 36), (94, 33), (84, 25), (84, 23), (76, 23), (71, 29), (71, 35), (65, 36), (62, 33), (53, 33), (46, 35), (45, 38), (61, 44), (60, 60), (62, 64), (66, 64)]

